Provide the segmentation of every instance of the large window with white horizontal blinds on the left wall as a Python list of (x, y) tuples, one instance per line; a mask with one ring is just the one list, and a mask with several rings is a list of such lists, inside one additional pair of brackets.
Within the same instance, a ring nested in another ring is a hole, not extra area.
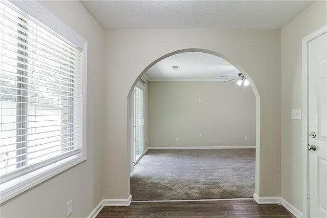
[(86, 159), (86, 41), (36, 2), (15, 5), (0, 1), (1, 203)]

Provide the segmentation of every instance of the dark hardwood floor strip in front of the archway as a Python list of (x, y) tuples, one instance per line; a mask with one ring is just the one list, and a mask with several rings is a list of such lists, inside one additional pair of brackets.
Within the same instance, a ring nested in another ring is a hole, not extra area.
[(97, 217), (295, 217), (282, 205), (254, 200), (194, 202), (132, 202), (128, 207), (105, 206)]

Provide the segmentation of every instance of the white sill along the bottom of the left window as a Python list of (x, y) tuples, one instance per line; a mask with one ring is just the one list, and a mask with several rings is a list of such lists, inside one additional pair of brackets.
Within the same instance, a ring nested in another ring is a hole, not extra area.
[(81, 154), (42, 167), (0, 185), (0, 204), (86, 160)]

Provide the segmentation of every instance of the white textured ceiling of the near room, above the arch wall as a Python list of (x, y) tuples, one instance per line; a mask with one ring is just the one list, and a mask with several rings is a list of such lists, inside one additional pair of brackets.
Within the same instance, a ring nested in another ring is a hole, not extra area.
[(103, 29), (280, 29), (314, 1), (81, 1)]

